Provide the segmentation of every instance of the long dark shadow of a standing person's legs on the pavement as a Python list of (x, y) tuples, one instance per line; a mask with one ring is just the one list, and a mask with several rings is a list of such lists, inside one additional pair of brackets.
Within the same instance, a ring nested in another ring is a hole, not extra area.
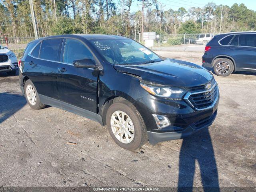
[(208, 128), (184, 138), (180, 150), (178, 192), (192, 192), (199, 164), (204, 192), (219, 192), (218, 170)]

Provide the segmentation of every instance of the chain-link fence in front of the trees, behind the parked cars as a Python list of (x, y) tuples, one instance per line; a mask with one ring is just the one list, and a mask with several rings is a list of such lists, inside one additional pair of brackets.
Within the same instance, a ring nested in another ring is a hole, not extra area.
[[(201, 33), (201, 34), (168, 34), (168, 35), (157, 35), (154, 40), (154, 46), (150, 47), (153, 50), (165, 50), (165, 51), (195, 51), (201, 52), (204, 50), (205, 44), (207, 44), (214, 34)], [(141, 44), (144, 44), (141, 35), (127, 36)], [(22, 57), (26, 45), (35, 40), (34, 37), (7, 37), (0, 38), (0, 44), (8, 47), (12, 50), (18, 59)], [(195, 45), (197, 45), (195, 48)]]

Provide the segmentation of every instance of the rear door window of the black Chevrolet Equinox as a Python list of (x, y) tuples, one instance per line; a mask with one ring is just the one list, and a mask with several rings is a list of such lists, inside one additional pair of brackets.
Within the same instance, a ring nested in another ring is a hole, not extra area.
[(57, 61), (61, 39), (46, 39), (42, 41), (40, 58)]

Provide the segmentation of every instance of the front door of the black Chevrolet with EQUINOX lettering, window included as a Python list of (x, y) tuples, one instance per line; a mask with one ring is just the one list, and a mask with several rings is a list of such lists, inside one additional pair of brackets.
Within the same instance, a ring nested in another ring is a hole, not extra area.
[[(78, 39), (66, 38), (61, 52), (61, 63), (58, 65), (58, 86), (62, 108), (72, 110), (73, 106), (97, 112), (97, 80), (98, 70), (76, 68), (74, 60), (94, 56), (86, 44)], [(70, 106), (73, 105), (73, 106)], [(80, 110), (75, 108), (76, 110)], [(78, 113), (76, 111), (76, 113)]]

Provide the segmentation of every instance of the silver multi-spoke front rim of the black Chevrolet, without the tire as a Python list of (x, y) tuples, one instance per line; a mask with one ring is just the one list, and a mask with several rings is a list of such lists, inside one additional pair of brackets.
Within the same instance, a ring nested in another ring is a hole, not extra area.
[(115, 111), (110, 120), (114, 136), (122, 143), (128, 144), (134, 138), (134, 125), (131, 118), (123, 111)]

